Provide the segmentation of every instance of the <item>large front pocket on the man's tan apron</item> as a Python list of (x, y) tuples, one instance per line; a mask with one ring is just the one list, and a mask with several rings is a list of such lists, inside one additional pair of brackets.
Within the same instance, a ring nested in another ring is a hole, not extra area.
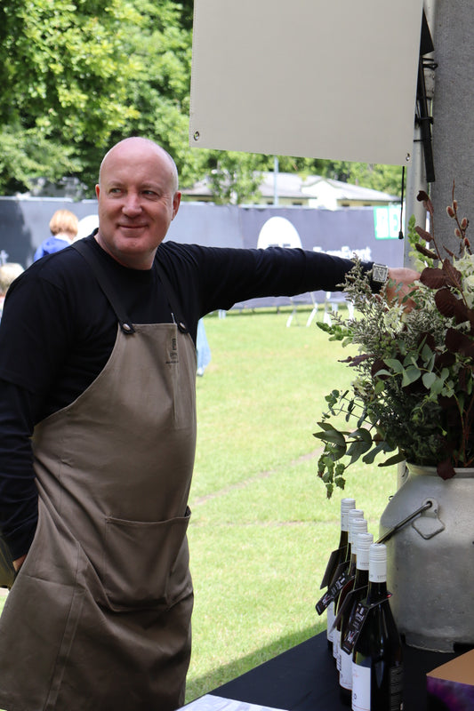
[(189, 562), (190, 514), (187, 507), (186, 515), (167, 521), (105, 519), (102, 582), (112, 609), (173, 603), (170, 578)]

